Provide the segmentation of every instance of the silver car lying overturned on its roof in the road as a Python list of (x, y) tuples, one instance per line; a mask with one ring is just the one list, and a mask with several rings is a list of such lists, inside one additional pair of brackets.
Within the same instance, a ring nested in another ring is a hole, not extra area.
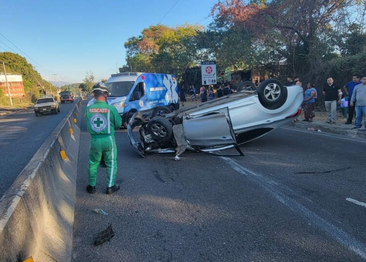
[[(242, 89), (165, 116), (152, 117), (151, 110), (137, 112), (127, 132), (134, 150), (142, 156), (150, 152), (175, 152), (178, 156), (186, 149), (214, 153), (234, 147), (243, 154), (238, 145), (301, 114), (303, 91), (299, 86), (284, 87), (280, 81), (268, 79), (257, 90)], [(132, 132), (138, 126), (141, 141), (135, 140)]]

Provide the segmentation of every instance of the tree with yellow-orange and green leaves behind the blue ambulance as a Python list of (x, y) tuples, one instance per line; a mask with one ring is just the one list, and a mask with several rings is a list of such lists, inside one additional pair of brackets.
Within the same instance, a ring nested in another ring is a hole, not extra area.
[(120, 72), (161, 72), (182, 76), (184, 72), (207, 58), (197, 38), (202, 26), (184, 24), (170, 28), (161, 24), (142, 30), (142, 35), (131, 37), (127, 49), (126, 65)]

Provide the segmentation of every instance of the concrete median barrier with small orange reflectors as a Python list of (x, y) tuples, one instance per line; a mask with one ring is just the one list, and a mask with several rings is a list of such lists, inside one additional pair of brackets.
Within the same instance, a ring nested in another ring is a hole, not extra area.
[[(71, 260), (80, 139), (80, 121), (74, 119), (81, 117), (79, 102), (0, 199), (0, 261)], [(61, 151), (66, 154), (63, 160)], [(17, 165), (17, 159), (8, 164)]]

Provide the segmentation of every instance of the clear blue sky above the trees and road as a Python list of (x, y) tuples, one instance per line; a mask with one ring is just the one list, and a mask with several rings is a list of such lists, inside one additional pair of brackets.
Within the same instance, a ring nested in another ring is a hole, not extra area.
[[(7, 0), (1, 3), (0, 33), (33, 60), (26, 57), (46, 80), (58, 74), (57, 81), (81, 82), (91, 70), (99, 81), (116, 71), (116, 63), (125, 63), (127, 38), (162, 19), (168, 26), (205, 24), (217, 1)], [(1, 52), (13, 52), (11, 47), (24, 56), (3, 36)]]

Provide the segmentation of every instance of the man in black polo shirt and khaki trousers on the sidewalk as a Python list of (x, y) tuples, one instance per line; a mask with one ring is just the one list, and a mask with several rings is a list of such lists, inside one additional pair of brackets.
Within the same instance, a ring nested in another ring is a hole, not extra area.
[(325, 123), (332, 123), (335, 125), (337, 123), (337, 100), (338, 105), (340, 105), (342, 100), (342, 90), (334, 85), (333, 78), (329, 77), (326, 82), (327, 84), (323, 89), (323, 95), (325, 96), (325, 110), (327, 113)]

